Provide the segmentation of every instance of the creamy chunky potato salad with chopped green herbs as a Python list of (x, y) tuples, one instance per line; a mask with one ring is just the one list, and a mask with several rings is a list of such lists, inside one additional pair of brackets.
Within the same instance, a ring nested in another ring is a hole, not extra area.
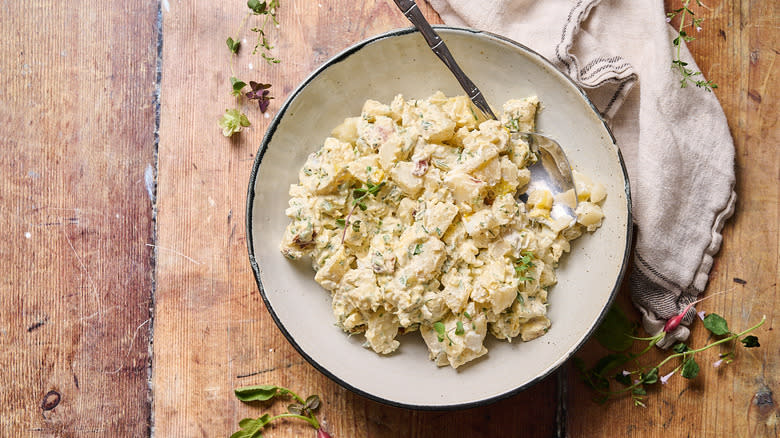
[[(550, 327), (547, 295), (569, 241), (601, 225), (603, 185), (574, 173), (577, 219), (523, 193), (537, 157), (539, 100), (480, 119), (466, 96), (368, 100), (333, 129), (290, 186), (281, 252), (310, 257), (336, 324), (380, 354), (419, 331), (439, 366), (487, 353), (485, 337), (530, 341)], [(560, 202), (565, 202), (561, 200)]]

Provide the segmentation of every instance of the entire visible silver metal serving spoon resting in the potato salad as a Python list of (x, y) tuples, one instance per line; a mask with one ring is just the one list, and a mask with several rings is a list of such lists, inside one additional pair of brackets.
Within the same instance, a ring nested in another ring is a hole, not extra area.
[[(452, 57), (447, 45), (444, 44), (441, 37), (433, 30), (428, 20), (425, 19), (422, 11), (417, 7), (417, 3), (414, 0), (394, 1), (406, 18), (420, 31), (428, 46), (433, 50), (433, 53), (455, 75), (460, 86), (466, 91), (474, 105), (482, 111), (486, 118), (498, 120), (498, 117), (490, 109), (487, 100), (485, 100), (485, 96), (482, 95), (479, 88), (455, 62), (455, 58)], [(528, 170), (531, 171), (531, 182), (528, 184), (526, 193), (521, 195), (521, 198), (534, 190), (546, 189), (557, 199), (556, 195), (571, 190), (574, 194), (574, 196), (569, 196), (569, 204), (571, 205), (563, 202), (554, 202), (550, 216), (553, 219), (563, 216), (576, 218), (577, 215), (574, 213), (574, 209), (577, 207), (577, 191), (574, 188), (574, 178), (571, 174), (569, 160), (566, 158), (561, 145), (550, 137), (534, 132), (512, 132), (512, 137), (525, 140), (530, 146), (531, 152), (538, 158), (535, 164), (528, 167)]]

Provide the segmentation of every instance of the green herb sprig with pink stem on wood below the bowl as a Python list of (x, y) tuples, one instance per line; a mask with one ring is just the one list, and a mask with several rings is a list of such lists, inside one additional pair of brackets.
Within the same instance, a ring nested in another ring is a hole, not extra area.
[(230, 438), (258, 438), (262, 437), (262, 431), (274, 420), (282, 418), (293, 418), (307, 422), (317, 431), (317, 438), (330, 438), (314, 412), (320, 407), (320, 398), (318, 395), (310, 395), (305, 399), (293, 391), (276, 385), (254, 385), (245, 386), (235, 390), (236, 398), (242, 402), (249, 403), (254, 401), (271, 401), (276, 398), (289, 397), (293, 403), (287, 406), (287, 412), (271, 416), (263, 414), (258, 418), (244, 418), (238, 422), (241, 428), (239, 431), (230, 435)]

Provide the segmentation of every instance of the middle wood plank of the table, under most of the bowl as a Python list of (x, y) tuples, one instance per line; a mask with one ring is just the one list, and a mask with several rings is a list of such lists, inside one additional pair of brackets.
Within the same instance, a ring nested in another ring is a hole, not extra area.
[[(422, 2), (421, 7), (437, 20), (430, 7)], [(244, 237), (246, 184), (268, 119), (247, 106), (253, 126), (234, 141), (223, 138), (216, 126), (234, 105), (225, 39), (235, 32), (244, 10), (243, 0), (201, 0), (186, 7), (171, 2), (163, 15), (155, 434), (227, 436), (241, 418), (261, 413), (257, 406), (237, 402), (233, 388), (273, 383), (318, 393), (334, 436), (424, 437), (466, 431), (471, 436), (510, 436), (519, 424), (538, 432), (535, 436), (552, 435), (554, 379), (491, 407), (413, 412), (351, 394), (306, 363), (280, 334), (257, 292)], [(236, 63), (236, 76), (273, 84), (272, 114), (329, 57), (373, 34), (408, 27), (395, 5), (384, 0), (282, 2), (279, 18), (279, 30), (269, 36), (281, 63), (268, 66), (259, 57)], [(273, 436), (307, 436), (307, 427), (285, 425), (275, 428)]]

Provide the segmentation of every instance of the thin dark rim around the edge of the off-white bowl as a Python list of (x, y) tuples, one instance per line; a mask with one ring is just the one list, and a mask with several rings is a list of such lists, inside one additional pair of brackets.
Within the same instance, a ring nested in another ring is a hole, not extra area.
[(299, 345), (297, 342), (295, 342), (295, 339), (293, 336), (287, 331), (287, 329), (284, 327), (284, 324), (282, 324), (281, 320), (279, 319), (276, 312), (274, 312), (273, 306), (271, 305), (271, 302), (268, 300), (268, 297), (265, 294), (265, 289), (263, 288), (263, 283), (260, 280), (260, 267), (257, 264), (257, 260), (255, 258), (255, 250), (254, 250), (254, 243), (253, 243), (253, 236), (252, 236), (252, 208), (254, 205), (254, 198), (255, 198), (255, 183), (257, 181), (258, 172), (260, 170), (260, 163), (263, 160), (263, 156), (265, 155), (265, 152), (268, 148), (268, 144), (273, 138), (273, 135), (282, 119), (284, 114), (287, 112), (288, 107), (292, 103), (293, 100), (298, 96), (298, 94), (301, 93), (301, 91), (306, 88), (306, 86), (313, 81), (317, 76), (319, 76), (323, 71), (331, 67), (332, 65), (335, 65), (345, 59), (347, 59), (352, 54), (356, 53), (363, 47), (375, 43), (377, 41), (391, 38), (395, 36), (401, 36), (406, 35), (410, 33), (418, 32), (415, 28), (409, 27), (409, 28), (401, 28), (401, 29), (393, 29), (388, 32), (384, 32), (372, 37), (369, 37), (363, 41), (360, 41), (358, 43), (355, 43), (354, 45), (346, 48), (341, 53), (337, 54), (336, 56), (332, 57), (331, 59), (325, 61), (320, 67), (318, 67), (316, 70), (314, 70), (301, 84), (290, 93), (290, 95), (285, 100), (284, 104), (279, 109), (279, 112), (274, 116), (273, 120), (271, 121), (270, 125), (268, 126), (268, 129), (263, 136), (263, 140), (260, 144), (260, 148), (258, 149), (257, 155), (255, 156), (254, 165), (252, 166), (252, 172), (249, 177), (249, 188), (247, 190), (247, 205), (246, 205), (246, 242), (247, 242), (247, 249), (249, 251), (249, 264), (252, 267), (252, 272), (255, 276), (255, 282), (257, 283), (258, 290), (260, 291), (260, 295), (263, 298), (263, 302), (265, 303), (266, 308), (268, 309), (268, 312), (271, 314), (271, 317), (273, 318), (274, 322), (276, 323), (276, 326), (279, 328), (279, 330), (282, 332), (285, 338), (287, 338), (287, 341), (298, 351), (298, 353), (303, 356), (304, 359), (306, 359), (309, 364), (311, 364), (314, 368), (316, 368), (319, 372), (327, 376), (332, 381), (338, 383), (342, 387), (359, 394), (363, 397), (366, 397), (370, 400), (383, 403), (389, 406), (399, 407), (399, 408), (405, 408), (405, 409), (413, 409), (413, 410), (420, 410), (420, 411), (451, 411), (451, 410), (459, 410), (459, 409), (469, 409), (469, 408), (475, 408), (480, 406), (486, 406), (492, 403), (495, 403), (499, 400), (503, 400), (506, 398), (509, 398), (513, 395), (516, 395), (520, 392), (522, 392), (525, 389), (530, 388), (531, 386), (535, 385), (539, 381), (545, 379), (547, 376), (553, 373), (553, 371), (556, 371), (558, 368), (560, 368), (562, 365), (564, 365), (572, 356), (574, 356), (577, 351), (579, 351), (583, 345), (590, 339), (590, 337), (593, 335), (596, 328), (599, 326), (601, 321), (606, 316), (607, 311), (611, 307), (612, 303), (615, 300), (615, 297), (617, 296), (618, 291), (620, 290), (621, 285), (623, 284), (623, 279), (625, 277), (626, 271), (628, 269), (629, 264), (629, 257), (631, 254), (631, 247), (632, 247), (632, 238), (633, 238), (633, 219), (632, 219), (632, 205), (631, 205), (631, 190), (630, 190), (630, 184), (628, 180), (628, 172), (626, 170), (625, 161), (623, 160), (623, 155), (620, 152), (620, 148), (617, 145), (617, 142), (615, 141), (615, 136), (612, 133), (612, 130), (609, 128), (609, 125), (604, 120), (602, 115), (599, 113), (596, 106), (593, 104), (593, 102), (590, 101), (588, 96), (585, 94), (585, 92), (582, 90), (582, 88), (577, 85), (574, 80), (569, 77), (564, 72), (561, 72), (555, 66), (545, 57), (540, 55), (538, 52), (526, 47), (523, 44), (520, 44), (510, 38), (497, 35), (491, 32), (476, 30), (476, 29), (470, 29), (465, 27), (458, 27), (458, 26), (445, 26), (445, 25), (435, 25), (434, 28), (438, 30), (445, 30), (445, 31), (453, 31), (453, 32), (462, 32), (462, 33), (468, 33), (468, 34), (482, 34), (487, 35), (492, 38), (496, 38), (498, 40), (504, 41), (510, 45), (513, 45), (517, 47), (518, 49), (525, 51), (529, 55), (532, 55), (536, 58), (538, 58), (538, 61), (542, 64), (547, 64), (548, 67), (551, 67), (554, 71), (557, 71), (561, 74), (563, 78), (568, 80), (572, 86), (576, 90), (579, 91), (581, 97), (585, 100), (585, 102), (588, 103), (588, 105), (593, 110), (594, 114), (598, 116), (599, 120), (601, 121), (602, 125), (604, 126), (604, 129), (607, 130), (609, 133), (610, 139), (612, 141), (612, 145), (615, 147), (615, 150), (617, 152), (617, 157), (620, 162), (620, 167), (623, 172), (623, 180), (625, 181), (625, 194), (626, 194), (626, 206), (627, 206), (627, 223), (626, 223), (626, 248), (623, 253), (623, 260), (621, 262), (620, 267), (620, 273), (618, 275), (617, 280), (615, 281), (615, 284), (612, 288), (612, 292), (610, 293), (609, 299), (607, 300), (607, 305), (604, 306), (604, 309), (602, 309), (601, 314), (599, 317), (594, 321), (593, 325), (591, 325), (590, 329), (588, 330), (588, 333), (582, 338), (582, 340), (579, 342), (579, 344), (575, 345), (569, 352), (558, 359), (556, 363), (554, 363), (551, 367), (549, 367), (544, 373), (542, 373), (539, 376), (536, 376), (535, 378), (529, 380), (523, 385), (520, 385), (516, 388), (512, 388), (502, 394), (494, 395), (488, 398), (484, 398), (482, 400), (477, 400), (473, 402), (466, 402), (466, 403), (456, 403), (456, 404), (448, 404), (448, 405), (414, 405), (409, 403), (403, 403), (398, 402), (394, 400), (388, 400), (379, 396), (376, 396), (374, 394), (368, 393), (366, 391), (363, 391), (359, 388), (356, 388), (349, 383), (345, 382), (344, 380), (336, 377), (334, 374), (332, 374), (328, 369), (320, 365), (314, 358), (309, 356)]

